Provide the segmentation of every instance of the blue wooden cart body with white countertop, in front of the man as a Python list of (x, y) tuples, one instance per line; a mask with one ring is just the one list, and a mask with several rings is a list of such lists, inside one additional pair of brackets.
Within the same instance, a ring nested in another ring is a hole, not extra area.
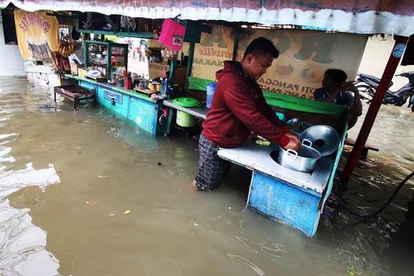
[(331, 193), (335, 170), (344, 145), (337, 154), (322, 157), (313, 172), (297, 172), (277, 164), (279, 146), (258, 146), (249, 139), (239, 148), (220, 148), (219, 157), (253, 171), (247, 204), (277, 221), (312, 237)]

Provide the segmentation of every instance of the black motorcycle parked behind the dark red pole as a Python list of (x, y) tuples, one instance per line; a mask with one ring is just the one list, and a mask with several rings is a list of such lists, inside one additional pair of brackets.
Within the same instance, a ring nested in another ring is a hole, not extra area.
[[(408, 78), (408, 83), (397, 91), (391, 91), (389, 90), (389, 88), (393, 86), (393, 82), (391, 81), (383, 103), (402, 106), (406, 103), (407, 99), (410, 98), (408, 108), (411, 108), (411, 110), (414, 111), (414, 71), (404, 72), (396, 76)], [(359, 95), (362, 99), (368, 99), (368, 103), (373, 99), (379, 84), (380, 79), (366, 74), (358, 74), (355, 81), (355, 87), (358, 89)]]

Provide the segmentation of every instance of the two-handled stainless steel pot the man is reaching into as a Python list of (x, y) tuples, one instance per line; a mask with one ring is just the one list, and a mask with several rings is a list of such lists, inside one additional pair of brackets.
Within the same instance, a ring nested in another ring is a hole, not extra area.
[(290, 170), (312, 172), (315, 170), (317, 161), (321, 158), (319, 151), (312, 148), (312, 142), (307, 139), (302, 140), (302, 146), (298, 152), (290, 149), (285, 150), (282, 147), (279, 148), (277, 163)]

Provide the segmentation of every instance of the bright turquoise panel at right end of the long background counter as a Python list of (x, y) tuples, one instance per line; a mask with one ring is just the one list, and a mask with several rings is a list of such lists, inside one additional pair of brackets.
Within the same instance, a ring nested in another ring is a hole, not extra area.
[(144, 101), (135, 97), (130, 97), (130, 110), (128, 118), (137, 124), (140, 128), (150, 132), (152, 135), (157, 134), (157, 114), (158, 106), (155, 103)]

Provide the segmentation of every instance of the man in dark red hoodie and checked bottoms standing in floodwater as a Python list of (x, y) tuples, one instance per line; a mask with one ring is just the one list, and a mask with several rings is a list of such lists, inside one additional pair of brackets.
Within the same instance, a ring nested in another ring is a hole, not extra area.
[(197, 190), (220, 185), (230, 163), (217, 156), (218, 148), (241, 146), (250, 131), (286, 149), (299, 150), (299, 139), (279, 121), (256, 82), (278, 56), (273, 42), (259, 37), (250, 42), (242, 62), (224, 61), (224, 69), (216, 73), (215, 95), (199, 139)]

